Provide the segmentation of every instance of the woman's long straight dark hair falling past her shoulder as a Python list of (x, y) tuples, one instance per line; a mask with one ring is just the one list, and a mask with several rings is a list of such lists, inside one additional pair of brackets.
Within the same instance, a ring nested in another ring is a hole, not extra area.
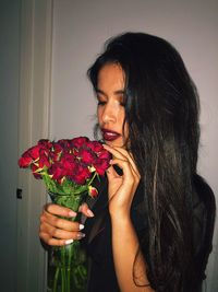
[(148, 231), (141, 249), (157, 291), (195, 291), (192, 177), (199, 140), (198, 95), (179, 52), (162, 38), (125, 33), (88, 70), (114, 62), (125, 74), (130, 148), (144, 185)]

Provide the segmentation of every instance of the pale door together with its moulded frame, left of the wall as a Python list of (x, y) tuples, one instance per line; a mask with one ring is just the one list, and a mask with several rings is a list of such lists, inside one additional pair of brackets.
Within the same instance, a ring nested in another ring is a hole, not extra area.
[[(0, 290), (46, 291), (38, 238), (43, 184), (19, 155), (48, 138), (52, 0), (5, 0), (0, 8)], [(22, 198), (16, 198), (16, 188)]]

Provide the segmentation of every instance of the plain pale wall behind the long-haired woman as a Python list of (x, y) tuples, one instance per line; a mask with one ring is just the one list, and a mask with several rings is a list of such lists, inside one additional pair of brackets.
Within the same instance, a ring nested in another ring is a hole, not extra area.
[[(218, 194), (218, 1), (53, 0), (50, 138), (92, 137), (95, 100), (86, 70), (104, 42), (125, 31), (170, 40), (181, 52), (202, 103), (198, 168)], [(218, 196), (218, 195), (217, 195)], [(207, 291), (218, 289), (217, 231)]]

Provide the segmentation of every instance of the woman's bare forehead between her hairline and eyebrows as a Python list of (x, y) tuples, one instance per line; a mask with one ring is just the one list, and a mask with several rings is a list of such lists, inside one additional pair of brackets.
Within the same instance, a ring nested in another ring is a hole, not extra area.
[(111, 87), (116, 90), (123, 90), (124, 87), (124, 72), (118, 63), (107, 63), (98, 72), (97, 87)]

